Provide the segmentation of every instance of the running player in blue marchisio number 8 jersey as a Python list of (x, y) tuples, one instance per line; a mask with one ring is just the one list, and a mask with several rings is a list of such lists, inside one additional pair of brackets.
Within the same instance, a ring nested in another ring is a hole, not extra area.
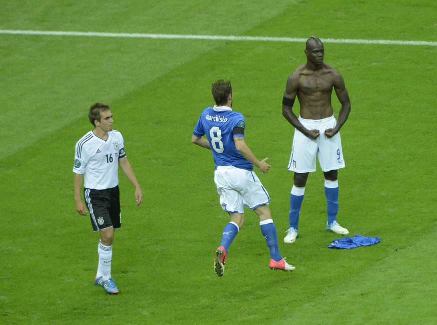
[(245, 142), (245, 120), (241, 113), (232, 111), (230, 81), (219, 80), (214, 83), (212, 95), (216, 105), (202, 112), (191, 142), (211, 150), (220, 204), (231, 219), (223, 229), (221, 244), (216, 249), (214, 271), (218, 276), (223, 275), (229, 246), (244, 222), (244, 205), (259, 217), (261, 233), (270, 250), (269, 267), (292, 271), (294, 266), (289, 265), (279, 253), (276, 227), (268, 207), (270, 197), (253, 172), (253, 165), (263, 174), (271, 166), (267, 164), (267, 158), (258, 160)]

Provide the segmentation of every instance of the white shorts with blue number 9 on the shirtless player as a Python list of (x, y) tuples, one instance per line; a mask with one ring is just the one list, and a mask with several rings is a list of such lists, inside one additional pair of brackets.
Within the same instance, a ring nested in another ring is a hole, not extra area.
[(325, 130), (334, 128), (337, 124), (334, 116), (321, 120), (307, 120), (299, 116), (299, 121), (308, 130), (319, 130), (320, 135), (313, 140), (297, 129), (294, 130), (288, 170), (296, 173), (314, 172), (316, 171), (316, 156), (324, 172), (344, 168), (340, 133), (338, 132), (330, 139), (325, 136)]

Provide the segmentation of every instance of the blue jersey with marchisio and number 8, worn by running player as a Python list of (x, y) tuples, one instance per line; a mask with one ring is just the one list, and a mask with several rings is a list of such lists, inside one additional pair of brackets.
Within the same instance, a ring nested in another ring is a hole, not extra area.
[(193, 134), (207, 136), (216, 169), (217, 166), (234, 166), (253, 170), (253, 164), (235, 147), (234, 136), (244, 137), (242, 134), (233, 135), (236, 127), (244, 129), (244, 116), (227, 106), (208, 107), (197, 121)]

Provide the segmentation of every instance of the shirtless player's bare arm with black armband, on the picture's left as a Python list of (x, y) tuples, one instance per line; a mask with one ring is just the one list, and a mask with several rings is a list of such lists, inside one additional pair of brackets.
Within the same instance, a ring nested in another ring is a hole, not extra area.
[[(285, 87), (284, 99), (282, 102), (282, 115), (285, 119), (294, 126), (297, 130), (303, 133), (305, 136), (311, 139), (317, 139), (320, 135), (319, 130), (308, 130), (306, 129), (302, 123), (300, 123), (298, 117), (293, 112), (293, 103), (296, 99), (297, 90), (298, 90), (299, 80), (295, 73), (293, 73), (290, 77), (288, 77), (287, 85)], [(284, 103), (286, 102), (286, 103)]]

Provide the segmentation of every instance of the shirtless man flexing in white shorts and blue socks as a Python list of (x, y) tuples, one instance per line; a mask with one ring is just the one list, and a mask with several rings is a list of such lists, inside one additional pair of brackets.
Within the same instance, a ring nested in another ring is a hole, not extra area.
[[(326, 230), (341, 235), (349, 233), (337, 223), (337, 173), (339, 168), (344, 168), (339, 131), (349, 116), (349, 95), (343, 77), (323, 62), (325, 52), (322, 41), (311, 36), (306, 41), (305, 55), (306, 64), (288, 77), (282, 100), (282, 115), (295, 127), (288, 164), (288, 170), (294, 171), (294, 184), (290, 194), (290, 228), (284, 238), (287, 243), (296, 240), (305, 185), (309, 172), (316, 170), (316, 156), (325, 177)], [(332, 89), (341, 103), (338, 120), (334, 118), (331, 106)], [(293, 112), (296, 96), (300, 104), (299, 117)]]

